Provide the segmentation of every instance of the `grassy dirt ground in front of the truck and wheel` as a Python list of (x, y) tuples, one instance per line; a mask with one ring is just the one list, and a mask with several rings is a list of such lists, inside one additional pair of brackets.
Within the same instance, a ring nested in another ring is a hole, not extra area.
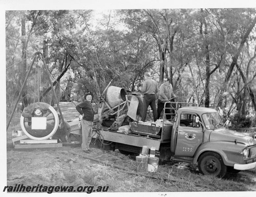
[[(78, 118), (72, 103), (61, 103), (61, 108), (66, 120)], [(70, 118), (71, 115), (73, 118)], [(155, 173), (138, 175), (135, 174), (134, 156), (123, 155), (118, 150), (92, 149), (90, 154), (81, 151), (81, 147), (68, 150), (8, 150), (7, 185), (109, 186), (108, 192), (256, 191), (256, 169), (228, 173), (220, 179), (201, 175), (196, 165), (168, 161), (158, 165)]]

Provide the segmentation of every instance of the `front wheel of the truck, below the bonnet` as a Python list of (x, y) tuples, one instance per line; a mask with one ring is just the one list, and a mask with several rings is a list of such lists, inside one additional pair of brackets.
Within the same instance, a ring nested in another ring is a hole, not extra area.
[(227, 166), (223, 163), (221, 156), (215, 152), (205, 152), (198, 160), (198, 169), (204, 175), (225, 176)]

